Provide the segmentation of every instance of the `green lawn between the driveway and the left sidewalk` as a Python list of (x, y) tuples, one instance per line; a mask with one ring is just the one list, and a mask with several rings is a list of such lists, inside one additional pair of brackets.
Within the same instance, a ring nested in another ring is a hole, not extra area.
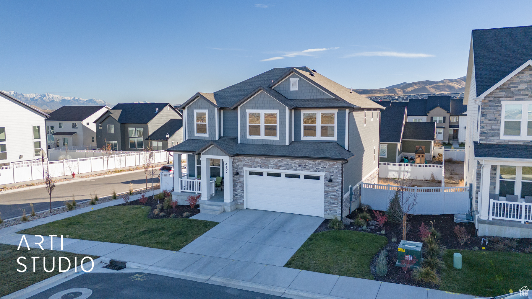
[(178, 251), (217, 223), (188, 218), (148, 219), (149, 207), (115, 206), (25, 229), (19, 234), (68, 235)]

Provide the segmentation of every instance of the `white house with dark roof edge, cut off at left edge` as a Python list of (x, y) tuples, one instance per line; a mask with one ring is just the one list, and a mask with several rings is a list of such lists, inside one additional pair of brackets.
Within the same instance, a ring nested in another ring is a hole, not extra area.
[(0, 91), (0, 166), (41, 158), (48, 115)]

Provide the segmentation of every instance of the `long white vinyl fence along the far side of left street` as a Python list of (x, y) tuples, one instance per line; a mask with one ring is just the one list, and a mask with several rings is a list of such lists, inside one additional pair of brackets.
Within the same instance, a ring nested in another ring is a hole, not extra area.
[[(153, 151), (153, 163), (172, 161), (166, 151)], [(146, 152), (122, 153), (120, 155), (78, 158), (59, 161), (44, 161), (44, 172), (48, 170), (51, 177), (96, 172), (122, 167), (134, 167), (146, 164), (149, 155)], [(40, 160), (12, 163), (0, 168), (0, 185), (25, 181), (43, 180), (43, 164)]]

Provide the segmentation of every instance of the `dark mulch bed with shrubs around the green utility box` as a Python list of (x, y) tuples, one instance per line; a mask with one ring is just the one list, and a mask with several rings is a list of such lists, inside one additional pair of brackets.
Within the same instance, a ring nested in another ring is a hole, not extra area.
[[(359, 213), (362, 212), (362, 209), (358, 209)], [(375, 219), (372, 210), (368, 209), (371, 217)], [(353, 211), (350, 215), (347, 215), (346, 218), (355, 219), (356, 211)], [(485, 247), (485, 250), (495, 251), (493, 245), (496, 243), (505, 242), (506, 245), (511, 244), (511, 241), (516, 241), (516, 246), (506, 246), (503, 251), (512, 251), (512, 252), (525, 252), (524, 249), (532, 246), (532, 238), (503, 238), (503, 237), (493, 237), (493, 236), (477, 236), (475, 224), (473, 223), (455, 223), (454, 217), (452, 214), (445, 215), (414, 215), (409, 219), (411, 225), (410, 231), (406, 234), (406, 239), (408, 241), (422, 242), (419, 237), (419, 226), (422, 223), (425, 223), (427, 226), (434, 225), (434, 228), (441, 234), (438, 238), (441, 245), (445, 246), (446, 249), (465, 249), (465, 250), (475, 250), (474, 247), (477, 247), (478, 250), (482, 250), (481, 247)], [(314, 233), (324, 232), (330, 230), (328, 227), (329, 220), (326, 219), (323, 223), (315, 230)], [(463, 245), (460, 244), (458, 238), (454, 234), (454, 227), (456, 225), (465, 227), (467, 233), (471, 236), (469, 241), (465, 242)], [(354, 223), (346, 225), (344, 229), (349, 230), (358, 230), (361, 232), (377, 234), (381, 232), (381, 228), (377, 224), (377, 221), (369, 221), (367, 230), (363, 230), (360, 226), (355, 226)], [(376, 275), (375, 272), (375, 262), (377, 256), (373, 258), (371, 262), (371, 274), (375, 277), (376, 280), (386, 281), (389, 283), (403, 284), (403, 285), (412, 285), (426, 288), (438, 288), (435, 285), (416, 283), (410, 275), (405, 276), (404, 271), (400, 267), (395, 266), (397, 261), (397, 247), (402, 239), (402, 230), (401, 224), (391, 223), (386, 221), (384, 228), (386, 233), (384, 236), (388, 238), (388, 244), (386, 245), (386, 250), (388, 252), (388, 274), (384, 277)], [(488, 240), (488, 245), (486, 241), (483, 242), (483, 238)], [(395, 242), (393, 242), (395, 239)], [(483, 243), (483, 244), (481, 244)], [(513, 244), (512, 244), (513, 245)], [(408, 271), (409, 274), (411, 271)]]

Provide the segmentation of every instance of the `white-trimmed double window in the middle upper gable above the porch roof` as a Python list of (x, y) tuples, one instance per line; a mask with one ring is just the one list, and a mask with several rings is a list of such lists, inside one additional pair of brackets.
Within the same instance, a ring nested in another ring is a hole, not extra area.
[(246, 109), (247, 138), (279, 140), (279, 110)]

